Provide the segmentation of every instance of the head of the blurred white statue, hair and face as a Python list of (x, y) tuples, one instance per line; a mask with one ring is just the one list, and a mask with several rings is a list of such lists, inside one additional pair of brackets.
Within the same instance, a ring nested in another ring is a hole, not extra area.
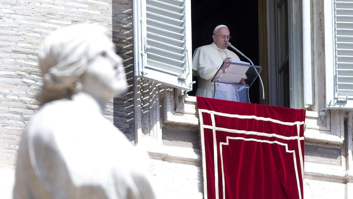
[(127, 87), (122, 59), (108, 32), (97, 24), (76, 24), (51, 33), (41, 44), (42, 103), (80, 91), (104, 100)]

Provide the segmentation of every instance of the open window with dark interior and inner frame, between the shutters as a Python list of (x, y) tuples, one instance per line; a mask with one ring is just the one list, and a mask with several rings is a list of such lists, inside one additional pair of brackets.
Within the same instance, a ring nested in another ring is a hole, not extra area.
[[(213, 28), (227, 25), (233, 36), (232, 45), (255, 65), (262, 66), (260, 75), (266, 103), (303, 108), (301, 16), (300, 0), (225, 0), (217, 3), (193, 0), (192, 47), (210, 44)], [(261, 93), (259, 82), (254, 82), (250, 88), (251, 102), (259, 103)]]

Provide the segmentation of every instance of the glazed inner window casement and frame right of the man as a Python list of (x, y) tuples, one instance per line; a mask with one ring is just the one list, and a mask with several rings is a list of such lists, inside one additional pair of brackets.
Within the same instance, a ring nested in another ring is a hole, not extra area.
[(267, 0), (270, 105), (304, 107), (301, 17), (301, 1)]

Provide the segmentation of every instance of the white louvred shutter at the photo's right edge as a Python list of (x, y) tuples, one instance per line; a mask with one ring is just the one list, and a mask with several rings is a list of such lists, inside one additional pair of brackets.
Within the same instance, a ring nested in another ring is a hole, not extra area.
[(353, 107), (353, 0), (324, 1), (327, 107)]

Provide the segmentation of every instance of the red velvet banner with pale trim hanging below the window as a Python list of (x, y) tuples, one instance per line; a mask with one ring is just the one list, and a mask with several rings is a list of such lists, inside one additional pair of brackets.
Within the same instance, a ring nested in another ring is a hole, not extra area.
[(303, 199), (305, 111), (197, 97), (205, 199)]

